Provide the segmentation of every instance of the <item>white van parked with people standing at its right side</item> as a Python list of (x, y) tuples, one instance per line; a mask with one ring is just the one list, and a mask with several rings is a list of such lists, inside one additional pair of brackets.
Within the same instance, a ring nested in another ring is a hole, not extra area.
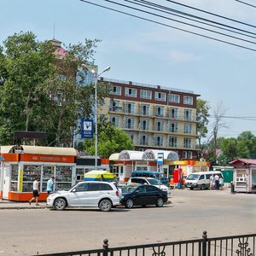
[(211, 184), (211, 177), (215, 175), (223, 178), (222, 172), (193, 172), (186, 177), (185, 187), (189, 189), (208, 189)]

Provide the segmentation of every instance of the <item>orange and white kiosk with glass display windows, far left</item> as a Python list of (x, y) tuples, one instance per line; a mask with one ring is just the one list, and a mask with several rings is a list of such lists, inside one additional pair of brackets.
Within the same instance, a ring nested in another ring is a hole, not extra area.
[(32, 183), (39, 177), (39, 201), (47, 197), (46, 184), (55, 177), (54, 189), (67, 189), (76, 182), (75, 148), (38, 146), (2, 146), (0, 148), (0, 198), (28, 201), (32, 198)]

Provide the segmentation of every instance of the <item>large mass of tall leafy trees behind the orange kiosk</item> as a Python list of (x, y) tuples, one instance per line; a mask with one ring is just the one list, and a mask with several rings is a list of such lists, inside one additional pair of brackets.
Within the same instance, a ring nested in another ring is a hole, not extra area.
[(82, 63), (93, 64), (96, 43), (68, 45), (60, 58), (49, 41), (32, 32), (15, 33), (0, 48), (0, 143), (13, 131), (46, 131), (46, 145), (70, 145), (73, 127), (93, 108), (93, 85), (77, 83)]

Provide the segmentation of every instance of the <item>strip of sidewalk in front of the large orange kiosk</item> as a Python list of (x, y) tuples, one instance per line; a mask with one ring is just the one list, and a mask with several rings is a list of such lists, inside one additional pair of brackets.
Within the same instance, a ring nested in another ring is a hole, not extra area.
[(31, 205), (28, 202), (20, 202), (20, 201), (8, 201), (8, 200), (1, 200), (0, 199), (0, 210), (6, 209), (44, 209), (46, 208), (45, 201), (39, 201), (39, 206), (36, 206), (36, 203), (33, 201)]

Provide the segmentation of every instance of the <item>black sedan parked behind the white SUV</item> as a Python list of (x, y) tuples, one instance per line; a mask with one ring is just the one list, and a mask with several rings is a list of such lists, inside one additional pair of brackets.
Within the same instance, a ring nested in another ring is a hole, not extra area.
[(152, 185), (127, 186), (122, 192), (121, 204), (126, 208), (155, 205), (163, 207), (168, 200), (167, 192)]

